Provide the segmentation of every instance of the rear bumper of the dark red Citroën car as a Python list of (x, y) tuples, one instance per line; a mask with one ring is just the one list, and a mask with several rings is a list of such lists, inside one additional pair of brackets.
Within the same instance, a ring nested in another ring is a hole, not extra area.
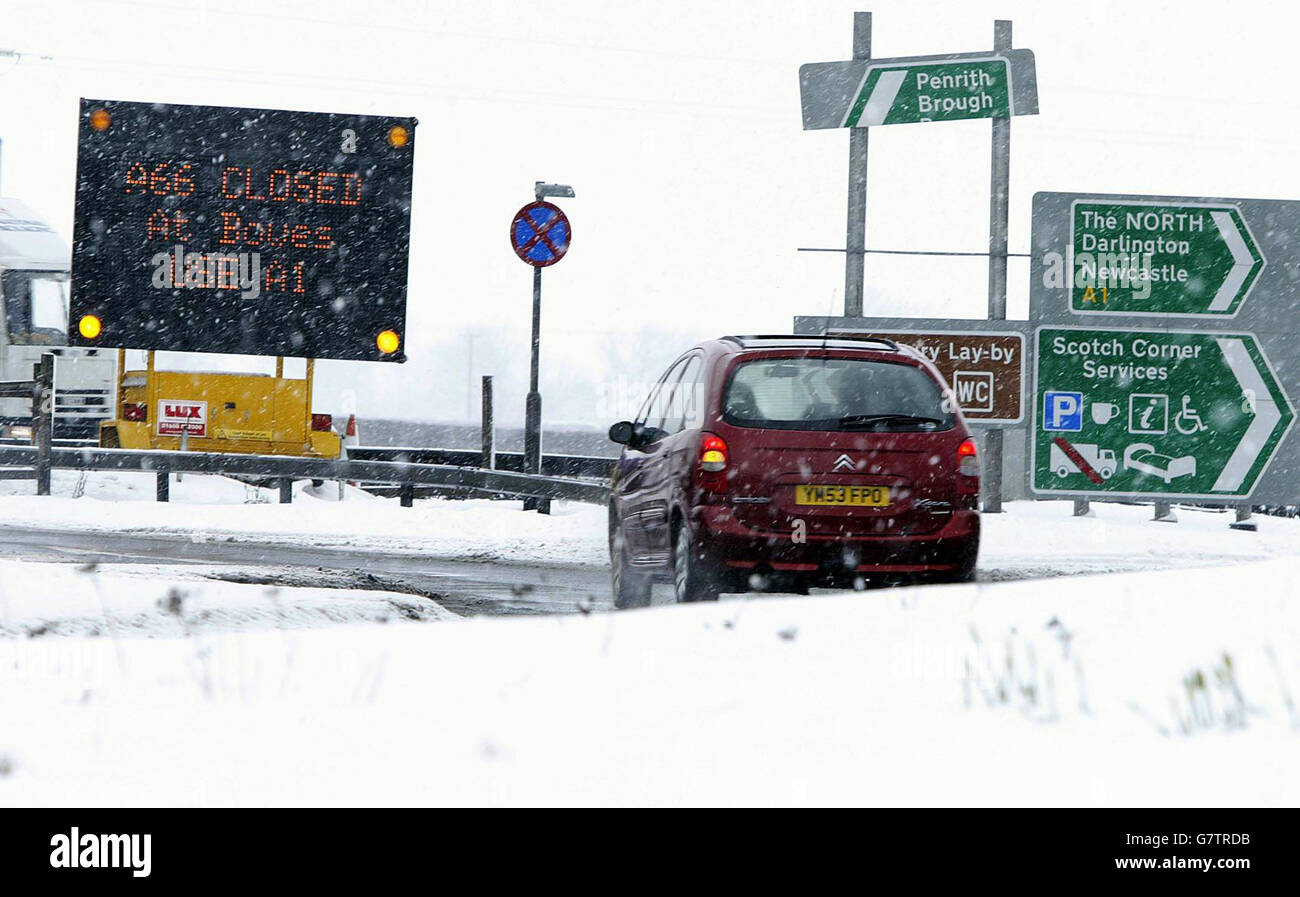
[(755, 529), (728, 506), (703, 506), (696, 520), (701, 547), (733, 569), (766, 568), (809, 575), (942, 573), (970, 564), (979, 550), (978, 511), (953, 511), (936, 530), (844, 537)]

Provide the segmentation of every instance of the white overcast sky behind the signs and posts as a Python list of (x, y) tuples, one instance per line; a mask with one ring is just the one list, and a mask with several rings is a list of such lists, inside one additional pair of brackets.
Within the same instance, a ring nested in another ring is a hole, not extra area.
[[(984, 49), (994, 18), (1035, 51), (1013, 251), (1037, 190), (1300, 199), (1300, 16), (1140, 0), (0, 0), (23, 53), (0, 58), (0, 192), (70, 237), (79, 96), (413, 114), (411, 360), (321, 364), (318, 410), (352, 390), (363, 415), (464, 419), (490, 373), (523, 416), (532, 280), (507, 229), (547, 179), (577, 198), (545, 274), (546, 417), (604, 424), (696, 339), (841, 308), (842, 256), (796, 250), (844, 244), (848, 134), (801, 130), (797, 72), (849, 57), (855, 8), (876, 56)], [(987, 121), (874, 129), (868, 246), (983, 250), (988, 147)], [(985, 295), (983, 260), (867, 260), (868, 313), (978, 317)]]

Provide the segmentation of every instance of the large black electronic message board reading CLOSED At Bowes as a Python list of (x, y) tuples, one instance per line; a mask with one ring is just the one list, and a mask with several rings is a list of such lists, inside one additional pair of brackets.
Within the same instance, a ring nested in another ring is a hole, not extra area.
[(403, 360), (415, 125), (82, 100), (70, 342)]

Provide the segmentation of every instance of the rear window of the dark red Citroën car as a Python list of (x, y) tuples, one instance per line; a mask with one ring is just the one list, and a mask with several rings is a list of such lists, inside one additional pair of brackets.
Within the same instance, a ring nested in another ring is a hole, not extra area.
[(923, 369), (868, 359), (741, 361), (723, 396), (736, 426), (789, 430), (945, 430), (944, 390)]

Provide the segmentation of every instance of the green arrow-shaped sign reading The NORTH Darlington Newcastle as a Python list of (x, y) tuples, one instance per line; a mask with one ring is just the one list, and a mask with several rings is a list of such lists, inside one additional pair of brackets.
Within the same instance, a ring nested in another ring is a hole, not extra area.
[(1070, 311), (1236, 315), (1264, 269), (1232, 205), (1078, 200)]

